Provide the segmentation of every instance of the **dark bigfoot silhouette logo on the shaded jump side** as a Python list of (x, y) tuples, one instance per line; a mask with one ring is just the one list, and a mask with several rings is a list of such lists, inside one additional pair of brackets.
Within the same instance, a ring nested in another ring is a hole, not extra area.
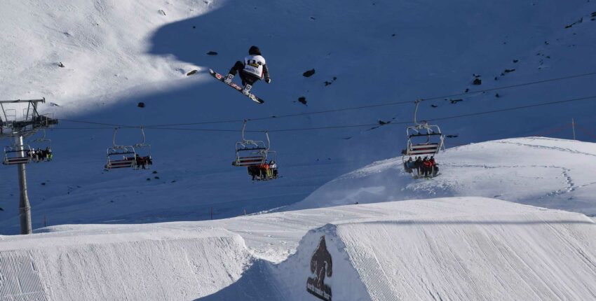
[(315, 274), (315, 278), (309, 277), (306, 280), (306, 291), (316, 295), (321, 300), (331, 301), (331, 288), (323, 283), (325, 274), (327, 274), (327, 277), (330, 277), (332, 273), (331, 254), (327, 251), (325, 235), (320, 237), (319, 245), (315, 253), (313, 253), (311, 273)]

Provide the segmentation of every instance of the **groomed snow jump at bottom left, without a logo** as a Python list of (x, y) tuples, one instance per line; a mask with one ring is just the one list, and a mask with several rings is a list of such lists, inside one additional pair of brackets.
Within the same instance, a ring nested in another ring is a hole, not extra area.
[(221, 229), (15, 237), (0, 244), (0, 300), (189, 300), (233, 283), (249, 260)]

